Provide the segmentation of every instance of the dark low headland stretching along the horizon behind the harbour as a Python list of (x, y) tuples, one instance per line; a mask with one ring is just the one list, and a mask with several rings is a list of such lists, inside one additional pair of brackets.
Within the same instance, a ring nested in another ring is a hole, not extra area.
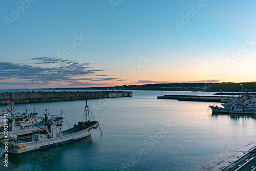
[[(241, 84), (243, 86), (241, 86)], [(222, 82), (222, 83), (157, 83), (144, 85), (123, 85), (115, 87), (91, 87), (91, 88), (56, 88), (58, 89), (72, 89), (72, 90), (159, 90), (159, 91), (231, 91), (241, 92), (256, 91), (256, 82)], [(48, 89), (49, 90), (49, 89)]]

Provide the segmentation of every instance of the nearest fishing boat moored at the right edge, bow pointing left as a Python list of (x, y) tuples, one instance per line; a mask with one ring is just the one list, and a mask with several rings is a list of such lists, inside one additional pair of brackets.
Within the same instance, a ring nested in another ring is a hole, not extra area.
[(209, 105), (209, 108), (213, 113), (222, 113), (222, 114), (245, 114), (245, 115), (255, 115), (256, 111), (250, 108), (244, 108), (238, 105), (232, 105), (231, 108), (221, 108), (218, 105)]

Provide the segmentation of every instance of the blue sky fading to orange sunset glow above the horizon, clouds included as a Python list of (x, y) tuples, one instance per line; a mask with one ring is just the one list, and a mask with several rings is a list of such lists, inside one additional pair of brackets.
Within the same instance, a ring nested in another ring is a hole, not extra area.
[(255, 81), (255, 7), (0, 0), (0, 89)]

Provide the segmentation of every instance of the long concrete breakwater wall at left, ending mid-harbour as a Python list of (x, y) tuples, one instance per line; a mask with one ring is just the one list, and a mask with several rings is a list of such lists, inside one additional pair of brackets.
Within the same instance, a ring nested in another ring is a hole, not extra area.
[(0, 104), (15, 103), (37, 103), (52, 101), (83, 100), (96, 98), (132, 97), (133, 92), (123, 91), (101, 91), (101, 92), (22, 92), (22, 93), (0, 93)]

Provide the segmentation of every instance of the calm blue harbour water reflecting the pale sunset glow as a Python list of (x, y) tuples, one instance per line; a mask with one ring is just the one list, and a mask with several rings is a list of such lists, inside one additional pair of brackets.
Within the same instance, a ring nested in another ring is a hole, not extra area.
[[(37, 151), (35, 170), (218, 170), (216, 165), (243, 154), (236, 151), (256, 145), (255, 117), (209, 115), (214, 102), (157, 99), (162, 94), (213, 93), (133, 91), (133, 97), (90, 99), (103, 136), (97, 129), (86, 139)], [(30, 109), (41, 114), (62, 109), (73, 126), (82, 120), (84, 105), (83, 100), (31, 103)], [(34, 157), (9, 154), (9, 161), (33, 170)]]

